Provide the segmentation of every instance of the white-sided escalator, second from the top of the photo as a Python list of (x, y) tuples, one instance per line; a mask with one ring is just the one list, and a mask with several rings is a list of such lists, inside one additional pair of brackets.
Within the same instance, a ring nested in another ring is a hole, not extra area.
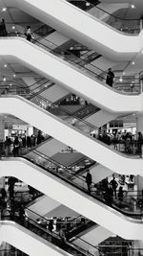
[[(40, 43), (38, 44), (41, 46)], [(53, 57), (49, 51), (45, 51), (37, 45), (33, 46), (30, 42), (18, 37), (12, 38), (11, 40), (10, 38), (1, 39), (0, 45), (0, 49), (2, 49), (0, 51), (1, 56), (10, 55), (12, 58), (17, 58), (24, 64), (27, 63), (31, 69), (40, 73), (42, 76), (45, 75), (46, 77), (49, 77), (52, 81), (72, 90), (76, 95), (87, 99), (87, 101), (91, 102), (93, 105), (104, 108), (106, 111), (121, 114), (142, 110), (142, 94), (138, 95), (137, 93), (116, 91), (104, 83), (106, 79), (103, 75), (97, 75), (95, 71), (90, 71), (87, 67), (80, 67), (80, 65), (77, 64), (79, 61), (78, 58), (73, 60), (64, 57), (64, 59), (70, 62), (69, 64), (67, 61), (60, 59), (62, 58), (61, 56), (58, 55), (58, 57)], [(21, 47), (30, 54), (25, 55), (21, 52)], [(51, 52), (53, 53), (53, 51)], [(38, 58), (37, 62), (34, 61), (35, 56)], [(47, 65), (48, 62), (51, 63), (51, 65)], [(76, 67), (73, 68), (71, 63), (76, 63), (76, 66), (80, 67), (80, 69)], [(55, 66), (57, 70), (56, 73)], [(81, 70), (81, 68), (83, 70)], [(59, 70), (60, 72), (58, 72)], [(85, 75), (84, 71), (88, 72), (86, 73), (87, 75)], [(65, 74), (68, 74), (68, 76), (65, 76)], [(96, 76), (97, 80), (94, 79), (94, 76)], [(103, 94), (106, 95), (106, 101)], [(110, 99), (112, 99), (112, 101)]]

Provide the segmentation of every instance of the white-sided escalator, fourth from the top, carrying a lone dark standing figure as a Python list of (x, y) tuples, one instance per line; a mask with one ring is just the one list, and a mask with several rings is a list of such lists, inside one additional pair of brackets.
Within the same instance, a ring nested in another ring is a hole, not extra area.
[[(32, 161), (29, 162), (22, 158), (3, 160), (0, 162), (0, 167), (1, 176), (16, 176), (112, 233), (125, 239), (142, 239), (142, 214), (140, 214), (140, 211), (133, 210), (131, 212), (131, 209), (127, 211), (116, 204), (112, 204), (112, 207), (106, 205), (103, 198), (96, 195), (96, 193), (89, 195), (87, 184), (83, 179), (80, 181), (80, 177), (76, 176), (75, 179), (70, 181), (64, 175), (57, 174), (55, 171), (52, 172), (50, 169), (41, 169), (37, 164), (36, 166), (32, 164)], [(86, 205), (86, 207), (83, 207), (83, 205)], [(112, 220), (112, 222), (109, 220)]]

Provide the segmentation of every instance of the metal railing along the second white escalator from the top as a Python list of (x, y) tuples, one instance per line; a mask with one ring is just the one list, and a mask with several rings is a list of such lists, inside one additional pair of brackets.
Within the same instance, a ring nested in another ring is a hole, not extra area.
[[(24, 34), (18, 33), (18, 32), (17, 33), (9, 33), (8, 36), (16, 36), (16, 37), (21, 36), (23, 38), (26, 37)], [(5, 37), (3, 37), (3, 38), (5, 38)], [(62, 58), (65, 61), (69, 62), (70, 64), (72, 64), (74, 66), (74, 68), (79, 69), (80, 72), (86, 74), (87, 76), (92, 78), (94, 81), (98, 81), (101, 83), (101, 85), (106, 85), (109, 87), (109, 85), (106, 84), (106, 77), (107, 77), (108, 73), (106, 71), (100, 69), (99, 67), (97, 67), (95, 64), (89, 63), (88, 61), (85, 62), (86, 60), (84, 60), (84, 63), (83, 63), (82, 58), (75, 57), (74, 55), (72, 55), (72, 53), (70, 51), (65, 50), (62, 47), (59, 47), (58, 45), (51, 42), (47, 38), (45, 38), (43, 42), (40, 42), (40, 41), (36, 40), (36, 38), (34, 38), (34, 39), (31, 39), (31, 42), (36, 44), (37, 46), (41, 47), (42, 49), (50, 52), (51, 54), (55, 55), (56, 57)], [(134, 80), (132, 79), (132, 81), (131, 81), (131, 76), (129, 76), (129, 77), (126, 76), (126, 81), (127, 81), (127, 78), (128, 78), (128, 82), (125, 83), (124, 76), (122, 76), (122, 79), (120, 79), (120, 76), (116, 77), (114, 79), (113, 86), (117, 89), (120, 89), (120, 87), (122, 85), (121, 90), (123, 91), (125, 88), (125, 94), (140, 93), (139, 79), (136, 79), (134, 77)], [(133, 82), (133, 86), (131, 86), (131, 82)], [(128, 89), (126, 92), (127, 86), (128, 86)], [(110, 88), (111, 88), (111, 86), (110, 86)]]

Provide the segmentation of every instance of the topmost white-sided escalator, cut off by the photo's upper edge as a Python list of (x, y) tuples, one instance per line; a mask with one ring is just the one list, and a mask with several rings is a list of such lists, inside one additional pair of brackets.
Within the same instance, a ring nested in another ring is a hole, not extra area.
[[(77, 7), (73, 7), (72, 4), (67, 1), (51, 1), (49, 5), (47, 5), (46, 0), (34, 4), (31, 0), (7, 0), (6, 3), (8, 6), (16, 6), (19, 9), (23, 9), (33, 16), (36, 15), (36, 17), (45, 24), (48, 23), (61, 33), (64, 31), (65, 35), (78, 40), (84, 45), (86, 44), (108, 58), (131, 60), (142, 49), (142, 33), (136, 36), (118, 32), (103, 21), (95, 17), (92, 18), (92, 15), (81, 11)], [(68, 15), (63, 15), (63, 13), (68, 13)], [(73, 16), (74, 20), (72, 20), (72, 18), (70, 19), (70, 16)], [(139, 21), (134, 22), (136, 24)], [(124, 24), (124, 22), (122, 23)], [(86, 24), (86, 27), (83, 26), (83, 24)]]

